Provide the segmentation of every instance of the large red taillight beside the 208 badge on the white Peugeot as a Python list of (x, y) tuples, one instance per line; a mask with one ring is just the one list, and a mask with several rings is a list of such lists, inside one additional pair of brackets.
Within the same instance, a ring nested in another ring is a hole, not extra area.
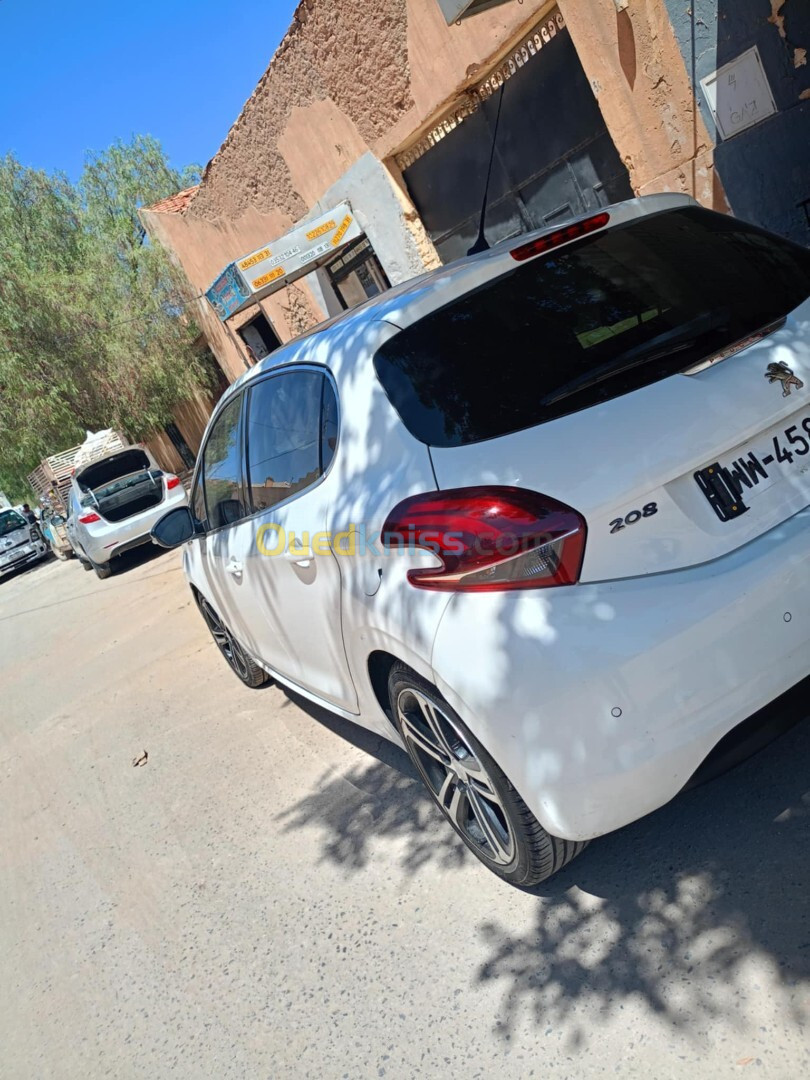
[(440, 567), (408, 570), (419, 589), (497, 592), (571, 585), (585, 550), (584, 519), (517, 487), (461, 487), (405, 499), (382, 527), (389, 551), (427, 550)]

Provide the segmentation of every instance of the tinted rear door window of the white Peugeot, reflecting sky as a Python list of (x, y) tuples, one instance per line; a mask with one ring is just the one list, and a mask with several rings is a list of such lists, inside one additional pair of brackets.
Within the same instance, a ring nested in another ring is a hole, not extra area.
[[(334, 397), (323, 375), (298, 370), (264, 379), (251, 390), (247, 473), (253, 512), (268, 510), (302, 491), (323, 474), (321, 403), (325, 384)], [(326, 438), (335, 442), (336, 406), (332, 411), (335, 430)]]

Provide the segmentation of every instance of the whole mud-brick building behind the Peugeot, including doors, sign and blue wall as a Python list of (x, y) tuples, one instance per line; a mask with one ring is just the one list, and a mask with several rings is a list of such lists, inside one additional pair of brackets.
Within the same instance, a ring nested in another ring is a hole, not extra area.
[(302, 0), (143, 219), (229, 379), (469, 249), (499, 108), (490, 243), (657, 191), (810, 243), (808, 50), (806, 0)]

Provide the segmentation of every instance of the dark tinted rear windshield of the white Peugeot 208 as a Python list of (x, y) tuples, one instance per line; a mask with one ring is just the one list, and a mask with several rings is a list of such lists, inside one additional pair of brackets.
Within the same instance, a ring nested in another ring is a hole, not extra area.
[(388, 341), (375, 368), (431, 446), (521, 431), (683, 372), (810, 296), (810, 252), (699, 207), (522, 264)]

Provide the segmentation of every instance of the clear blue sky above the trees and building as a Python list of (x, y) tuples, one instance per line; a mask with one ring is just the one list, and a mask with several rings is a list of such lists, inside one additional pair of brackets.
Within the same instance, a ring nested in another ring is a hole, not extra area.
[(204, 165), (297, 0), (0, 0), (0, 154), (77, 179), (86, 150), (154, 135)]

